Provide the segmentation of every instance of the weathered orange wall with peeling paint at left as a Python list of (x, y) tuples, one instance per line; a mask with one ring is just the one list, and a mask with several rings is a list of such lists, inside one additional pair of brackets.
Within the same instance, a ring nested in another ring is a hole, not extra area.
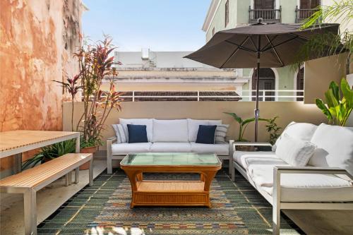
[(0, 9), (0, 131), (61, 130), (64, 95), (52, 80), (77, 72), (80, 0), (1, 0)]

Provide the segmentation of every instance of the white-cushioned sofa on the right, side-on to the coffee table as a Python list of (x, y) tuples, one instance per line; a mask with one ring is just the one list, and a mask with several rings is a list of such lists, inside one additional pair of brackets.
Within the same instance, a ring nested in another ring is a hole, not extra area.
[(273, 234), (280, 234), (281, 209), (353, 210), (353, 128), (291, 123), (283, 132), (316, 145), (306, 167), (287, 164), (275, 154), (276, 146), (273, 152), (237, 151), (241, 143), (232, 147), (235, 169), (273, 205)]

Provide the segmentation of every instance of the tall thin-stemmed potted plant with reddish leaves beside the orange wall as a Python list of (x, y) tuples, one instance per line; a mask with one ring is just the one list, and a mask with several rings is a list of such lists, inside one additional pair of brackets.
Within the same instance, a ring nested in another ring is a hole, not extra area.
[[(97, 147), (102, 145), (101, 132), (104, 123), (113, 109), (121, 110), (120, 92), (115, 91), (114, 77), (118, 75), (112, 67), (114, 56), (110, 56), (115, 47), (112, 47), (112, 39), (104, 37), (104, 40), (95, 44), (80, 46), (75, 54), (78, 59), (80, 72), (72, 80), (61, 85), (71, 94), (72, 102), (82, 90), (83, 114), (76, 125), (76, 131), (82, 133), (80, 138), (80, 152), (95, 153)], [(121, 64), (121, 63), (118, 63)], [(109, 80), (109, 90), (101, 90), (102, 81)], [(80, 80), (80, 85), (78, 85)], [(72, 104), (73, 105), (73, 104)], [(73, 107), (71, 115), (73, 130)], [(89, 163), (83, 164), (80, 169), (88, 169)]]

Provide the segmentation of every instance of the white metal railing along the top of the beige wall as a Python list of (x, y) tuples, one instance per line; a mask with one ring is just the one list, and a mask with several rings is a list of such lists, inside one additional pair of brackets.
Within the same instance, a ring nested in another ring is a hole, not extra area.
[[(256, 90), (196, 90), (196, 91), (124, 91), (121, 98), (126, 102), (143, 101), (251, 101)], [(259, 90), (261, 101), (302, 101), (304, 90)]]

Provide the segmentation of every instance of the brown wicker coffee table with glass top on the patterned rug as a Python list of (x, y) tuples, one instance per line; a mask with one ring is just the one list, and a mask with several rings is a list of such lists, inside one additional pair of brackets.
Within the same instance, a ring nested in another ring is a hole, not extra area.
[[(215, 154), (135, 153), (120, 162), (131, 183), (131, 208), (135, 206), (206, 206), (210, 184), (222, 167)], [(147, 181), (144, 172), (198, 173), (195, 181)]]

